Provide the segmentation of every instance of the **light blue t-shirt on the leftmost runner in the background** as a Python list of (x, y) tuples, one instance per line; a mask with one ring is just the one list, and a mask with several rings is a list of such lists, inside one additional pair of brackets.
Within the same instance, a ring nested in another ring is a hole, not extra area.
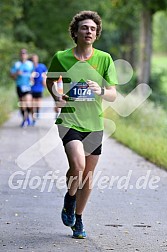
[(31, 74), (34, 70), (33, 63), (30, 60), (26, 60), (25, 62), (17, 61), (12, 66), (10, 72), (16, 73), (17, 71), (21, 71), (22, 74), (18, 75), (16, 78), (16, 85), (20, 87), (22, 92), (31, 90)]

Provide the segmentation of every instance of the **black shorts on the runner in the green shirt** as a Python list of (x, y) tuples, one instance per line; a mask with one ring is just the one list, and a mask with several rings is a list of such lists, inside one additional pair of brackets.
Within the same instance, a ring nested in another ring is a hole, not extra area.
[(72, 140), (79, 140), (83, 143), (85, 152), (92, 155), (100, 155), (102, 150), (103, 131), (80, 132), (75, 129), (68, 129), (58, 125), (59, 136), (65, 146)]

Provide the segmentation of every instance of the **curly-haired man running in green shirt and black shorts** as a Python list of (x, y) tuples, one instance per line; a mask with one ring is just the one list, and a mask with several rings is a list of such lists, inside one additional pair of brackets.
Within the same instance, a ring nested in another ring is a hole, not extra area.
[[(73, 237), (85, 238), (82, 213), (91, 192), (92, 176), (101, 154), (103, 135), (102, 99), (116, 99), (114, 63), (108, 53), (93, 48), (102, 29), (100, 16), (93, 11), (76, 14), (69, 27), (76, 46), (57, 52), (48, 70), (47, 87), (61, 107), (57, 119), (59, 135), (69, 162), (68, 191), (61, 217)], [(53, 76), (64, 73), (64, 95), (54, 90)]]

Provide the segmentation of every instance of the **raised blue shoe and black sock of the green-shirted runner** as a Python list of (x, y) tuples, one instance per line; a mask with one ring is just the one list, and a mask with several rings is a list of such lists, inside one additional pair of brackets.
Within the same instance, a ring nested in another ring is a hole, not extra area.
[(61, 212), (61, 219), (65, 226), (72, 227), (75, 224), (75, 208), (76, 200), (67, 202), (66, 196), (64, 197), (64, 206)]

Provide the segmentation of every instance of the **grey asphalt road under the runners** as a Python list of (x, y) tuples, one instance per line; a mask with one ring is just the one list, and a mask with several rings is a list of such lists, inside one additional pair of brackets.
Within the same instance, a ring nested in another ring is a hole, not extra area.
[(60, 218), (68, 164), (46, 112), (35, 127), (20, 128), (15, 112), (0, 128), (0, 251), (167, 251), (167, 173), (111, 138), (83, 216), (88, 238), (71, 238)]

